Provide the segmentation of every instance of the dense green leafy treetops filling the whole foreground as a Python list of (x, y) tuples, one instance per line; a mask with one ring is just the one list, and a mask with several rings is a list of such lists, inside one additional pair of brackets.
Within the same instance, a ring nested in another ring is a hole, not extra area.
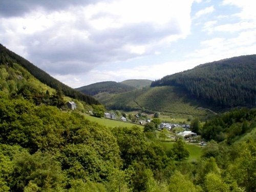
[(165, 151), (139, 127), (105, 127), (79, 112), (0, 96), (2, 191), (254, 191), (255, 148), (255, 133), (211, 140), (188, 162), (182, 139)]

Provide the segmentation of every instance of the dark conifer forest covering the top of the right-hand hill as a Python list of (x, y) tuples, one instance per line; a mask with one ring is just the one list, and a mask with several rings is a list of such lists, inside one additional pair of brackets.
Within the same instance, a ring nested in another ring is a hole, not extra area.
[(151, 87), (176, 86), (209, 108), (255, 107), (256, 55), (206, 63), (152, 82)]

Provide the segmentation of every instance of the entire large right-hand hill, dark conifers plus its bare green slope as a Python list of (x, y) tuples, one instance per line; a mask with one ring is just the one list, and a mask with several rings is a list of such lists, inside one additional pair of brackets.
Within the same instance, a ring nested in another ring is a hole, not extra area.
[(198, 109), (220, 112), (237, 106), (253, 108), (255, 63), (255, 55), (210, 62), (153, 81), (151, 88), (98, 94), (96, 98), (109, 109), (127, 111), (203, 114)]

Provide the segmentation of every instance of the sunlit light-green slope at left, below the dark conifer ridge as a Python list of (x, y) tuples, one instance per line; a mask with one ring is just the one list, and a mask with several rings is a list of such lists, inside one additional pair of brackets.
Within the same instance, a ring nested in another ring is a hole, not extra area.
[(67, 109), (66, 103), (72, 100), (78, 111), (87, 112), (92, 108), (86, 102), (67, 97), (50, 88), (17, 63), (12, 63), (11, 66), (0, 64), (0, 95), (12, 99), (24, 98), (37, 106), (45, 104)]

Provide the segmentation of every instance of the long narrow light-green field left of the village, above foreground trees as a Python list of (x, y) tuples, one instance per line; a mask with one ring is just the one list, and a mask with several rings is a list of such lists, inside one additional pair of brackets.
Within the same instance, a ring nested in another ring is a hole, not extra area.
[(90, 115), (85, 115), (84, 117), (86, 117), (90, 121), (97, 122), (101, 125), (105, 125), (105, 126), (108, 126), (108, 127), (116, 127), (116, 126), (132, 127), (132, 126), (136, 125), (138, 127), (141, 127), (141, 129), (143, 129), (143, 126), (138, 125), (138, 124), (134, 124), (134, 123), (122, 122), (122, 121), (106, 119), (106, 118), (98, 118), (98, 117), (93, 117), (93, 116), (90, 116)]

